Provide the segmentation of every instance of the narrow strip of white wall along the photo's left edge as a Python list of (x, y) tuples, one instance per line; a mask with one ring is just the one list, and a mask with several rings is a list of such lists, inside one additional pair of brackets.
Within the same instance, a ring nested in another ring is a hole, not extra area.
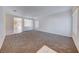
[(4, 13), (3, 8), (0, 7), (0, 48), (5, 38), (5, 28), (4, 28)]

